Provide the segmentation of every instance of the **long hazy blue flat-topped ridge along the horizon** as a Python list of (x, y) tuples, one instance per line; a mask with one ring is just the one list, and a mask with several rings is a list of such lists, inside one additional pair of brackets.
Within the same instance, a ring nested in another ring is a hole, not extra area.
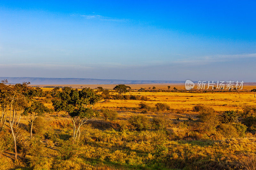
[(0, 77), (9, 83), (30, 82), (31, 85), (111, 85), (111, 84), (158, 84), (158, 83), (185, 83), (185, 81), (164, 80), (115, 80), (94, 78), (36, 78), (36, 77)]

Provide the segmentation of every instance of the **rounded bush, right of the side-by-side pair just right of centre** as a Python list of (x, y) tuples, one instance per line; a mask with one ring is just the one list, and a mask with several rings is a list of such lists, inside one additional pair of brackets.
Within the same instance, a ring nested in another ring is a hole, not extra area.
[(168, 125), (170, 124), (171, 119), (169, 115), (160, 114), (153, 118), (153, 127), (155, 129), (166, 129)]

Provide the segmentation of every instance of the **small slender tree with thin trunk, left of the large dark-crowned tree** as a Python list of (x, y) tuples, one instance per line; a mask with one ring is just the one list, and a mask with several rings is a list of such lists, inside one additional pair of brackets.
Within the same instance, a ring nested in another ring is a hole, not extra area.
[(42, 102), (34, 101), (30, 107), (24, 111), (24, 115), (30, 115), (30, 137), (32, 137), (33, 122), (38, 116), (43, 116), (49, 109)]

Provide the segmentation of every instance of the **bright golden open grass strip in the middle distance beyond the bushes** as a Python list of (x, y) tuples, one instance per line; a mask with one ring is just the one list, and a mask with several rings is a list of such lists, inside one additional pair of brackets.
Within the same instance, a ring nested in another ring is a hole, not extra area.
[[(216, 111), (242, 110), (246, 106), (256, 106), (256, 98), (251, 92), (215, 92), (215, 93), (183, 93), (183, 92), (131, 92), (132, 95), (147, 96), (148, 105), (166, 103), (171, 109), (192, 109), (196, 104), (213, 107)], [(138, 107), (141, 100), (110, 100), (99, 102), (96, 107)]]

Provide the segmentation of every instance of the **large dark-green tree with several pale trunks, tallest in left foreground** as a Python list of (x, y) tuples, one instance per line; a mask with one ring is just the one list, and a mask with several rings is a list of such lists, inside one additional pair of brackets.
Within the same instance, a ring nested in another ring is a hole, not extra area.
[(98, 111), (92, 109), (92, 106), (98, 101), (99, 97), (90, 88), (83, 88), (81, 91), (73, 89), (71, 91), (62, 91), (52, 100), (55, 111), (65, 111), (71, 117), (74, 141), (79, 140), (80, 127), (87, 120), (98, 116)]

